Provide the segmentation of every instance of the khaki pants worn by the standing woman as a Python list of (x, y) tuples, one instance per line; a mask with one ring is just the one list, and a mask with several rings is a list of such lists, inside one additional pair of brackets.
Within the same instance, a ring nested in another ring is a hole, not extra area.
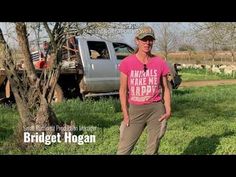
[(145, 154), (157, 154), (160, 139), (166, 131), (166, 120), (162, 122), (158, 120), (164, 113), (165, 107), (162, 102), (155, 102), (148, 105), (130, 105), (130, 126), (127, 127), (124, 121), (122, 121), (117, 154), (131, 154), (145, 127), (147, 127), (148, 135)]

